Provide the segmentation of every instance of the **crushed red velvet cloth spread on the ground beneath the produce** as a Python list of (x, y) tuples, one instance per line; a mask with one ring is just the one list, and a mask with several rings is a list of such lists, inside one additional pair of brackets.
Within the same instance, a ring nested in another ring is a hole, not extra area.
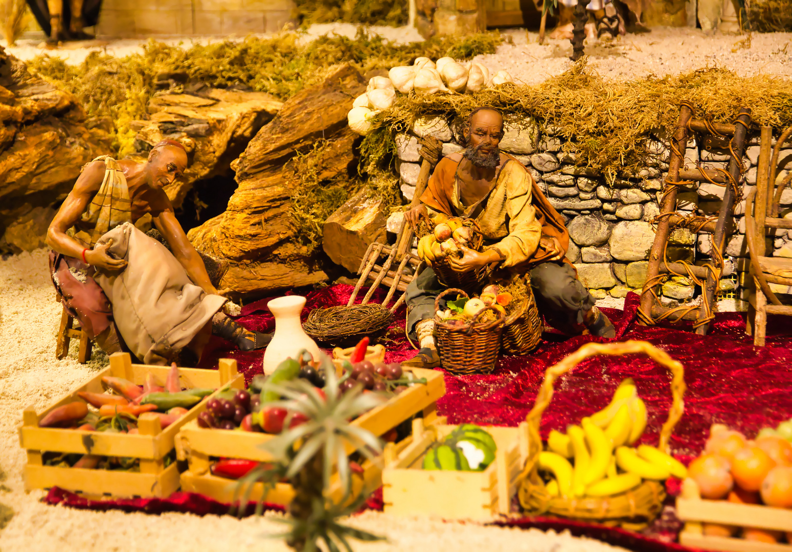
[[(319, 306), (346, 304), (351, 292), (352, 286), (346, 285), (308, 292), (303, 317)], [(374, 300), (381, 300), (383, 295), (378, 290)], [(274, 319), (266, 309), (267, 302), (268, 299), (263, 299), (244, 306), (238, 322), (248, 329), (272, 331)], [(671, 447), (672, 452), (684, 463), (702, 451), (713, 423), (726, 424), (752, 437), (760, 428), (792, 417), (792, 401), (789, 399), (792, 392), (792, 371), (789, 370), (792, 364), (792, 333), (783, 331), (787, 327), (783, 318), (770, 317), (767, 323), (767, 345), (755, 348), (752, 338), (744, 335), (744, 314), (718, 314), (710, 334), (699, 336), (691, 332), (689, 325), (638, 325), (637, 309), (638, 295), (630, 293), (624, 310), (603, 311), (614, 322), (619, 341), (649, 341), (683, 364), (687, 383), (685, 411), (673, 433)], [(397, 322), (387, 336), (390, 340), (386, 342), (388, 362), (405, 360), (414, 354), (414, 349), (409, 347), (404, 337), (404, 318), (402, 307), (397, 313)], [(515, 426), (525, 419), (531, 409), (547, 367), (588, 341), (607, 341), (591, 336), (567, 338), (555, 333), (546, 334), (545, 339), (530, 356), (502, 358), (491, 375), (447, 374), (446, 394), (438, 402), (439, 412), (447, 415), (450, 423), (470, 421)], [(262, 356), (261, 351), (240, 352), (227, 341), (213, 338), (204, 353), (201, 366), (217, 367), (217, 359), (234, 358), (249, 380), (261, 373)], [(584, 361), (572, 373), (562, 376), (556, 384), (550, 407), (543, 416), (543, 436), (550, 429), (565, 431), (567, 424), (579, 423), (581, 417), (607, 405), (616, 386), (626, 377), (634, 378), (649, 413), (649, 424), (641, 442), (657, 444), (657, 433), (671, 403), (670, 375), (652, 360), (638, 355), (592, 358)], [(676, 494), (676, 489), (678, 482), (669, 482), (669, 494)], [(180, 495), (177, 501), (182, 500), (181, 495), (184, 493), (177, 494)], [(206, 497), (196, 497), (196, 513), (203, 511), (205, 506), (200, 504), (205, 504), (207, 500)], [(370, 506), (376, 508), (376, 501), (371, 502)], [(184, 504), (188, 504), (188, 501)], [(671, 497), (668, 504), (672, 504)], [(128, 508), (128, 505), (124, 508)], [(678, 546), (661, 546), (661, 541), (672, 541), (680, 528), (680, 523), (671, 515), (664, 515), (645, 531), (660, 548), (646, 547), (649, 545), (643, 540), (643, 544), (627, 546), (623, 541), (628, 539), (619, 536), (622, 532), (585, 523), (542, 519), (515, 523), (520, 527), (569, 528), (570, 531), (577, 531), (576, 534), (597, 535), (597, 538), (601, 538), (604, 531), (611, 535), (610, 539), (604, 540), (612, 540), (614, 544), (618, 542), (619, 546), (633, 550), (682, 550)], [(634, 534), (630, 538), (639, 539)]]

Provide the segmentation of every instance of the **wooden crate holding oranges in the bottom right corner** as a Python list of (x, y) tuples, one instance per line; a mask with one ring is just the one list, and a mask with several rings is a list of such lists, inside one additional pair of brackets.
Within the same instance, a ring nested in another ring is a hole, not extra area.
[(676, 499), (676, 516), (685, 522), (680, 543), (703, 550), (724, 552), (792, 552), (792, 545), (781, 542), (753, 542), (739, 537), (704, 535), (702, 523), (721, 523), (737, 527), (753, 527), (771, 531), (792, 531), (792, 510), (756, 504), (734, 504), (708, 501), (699, 494), (699, 487), (688, 478)]

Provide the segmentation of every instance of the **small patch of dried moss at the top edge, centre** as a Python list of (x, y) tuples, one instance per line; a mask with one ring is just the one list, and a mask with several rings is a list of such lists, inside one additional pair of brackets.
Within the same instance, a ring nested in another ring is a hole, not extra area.
[(407, 24), (404, 0), (296, 0), (303, 25), (313, 23), (363, 23), (364, 25)]

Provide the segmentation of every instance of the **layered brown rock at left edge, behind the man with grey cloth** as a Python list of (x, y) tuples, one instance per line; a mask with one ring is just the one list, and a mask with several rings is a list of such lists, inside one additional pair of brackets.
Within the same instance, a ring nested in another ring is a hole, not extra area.
[(0, 253), (44, 244), (81, 167), (112, 153), (107, 124), (0, 47)]

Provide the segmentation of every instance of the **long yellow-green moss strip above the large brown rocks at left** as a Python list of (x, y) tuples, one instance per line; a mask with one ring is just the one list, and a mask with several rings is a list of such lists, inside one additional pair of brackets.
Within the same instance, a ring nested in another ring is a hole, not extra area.
[(305, 86), (321, 82), (333, 64), (350, 62), (361, 72), (412, 63), (420, 55), (470, 58), (493, 53), (501, 36), (482, 33), (440, 37), (425, 43), (394, 45), (363, 29), (354, 39), (322, 36), (307, 42), (299, 32), (268, 39), (193, 45), (182, 49), (150, 40), (143, 54), (114, 58), (92, 52), (78, 66), (39, 55), (28, 66), (56, 86), (74, 93), (89, 116), (111, 116), (116, 127), (114, 147), (121, 156), (132, 151), (135, 132), (129, 124), (146, 117), (154, 82), (162, 72), (182, 71), (194, 82), (224, 88), (245, 85), (287, 99)]

